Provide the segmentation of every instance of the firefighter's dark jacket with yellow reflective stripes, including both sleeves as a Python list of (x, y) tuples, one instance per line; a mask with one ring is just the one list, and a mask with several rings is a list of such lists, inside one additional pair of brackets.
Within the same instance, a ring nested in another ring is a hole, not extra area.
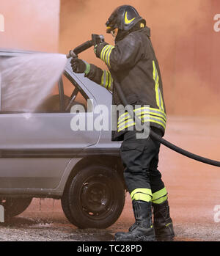
[[(119, 106), (122, 102), (114, 89), (114, 77), (117, 77), (133, 111), (143, 122), (150, 122), (151, 127), (159, 128), (164, 136), (166, 109), (161, 73), (150, 41), (150, 29), (145, 27), (131, 32), (115, 46), (106, 45), (100, 59), (109, 70), (101, 70), (91, 64), (87, 77), (112, 90), (112, 105)], [(131, 130), (131, 127), (135, 128), (135, 120), (128, 112), (117, 113), (117, 131), (113, 131), (112, 140), (122, 140), (122, 134), (129, 128)]]

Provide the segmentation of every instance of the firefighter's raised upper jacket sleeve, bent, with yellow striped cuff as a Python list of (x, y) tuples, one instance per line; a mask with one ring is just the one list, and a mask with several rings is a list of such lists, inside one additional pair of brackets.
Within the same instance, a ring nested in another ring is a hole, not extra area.
[(115, 46), (106, 45), (101, 51), (100, 59), (109, 68), (118, 71), (133, 67), (142, 56), (142, 40), (131, 33)]

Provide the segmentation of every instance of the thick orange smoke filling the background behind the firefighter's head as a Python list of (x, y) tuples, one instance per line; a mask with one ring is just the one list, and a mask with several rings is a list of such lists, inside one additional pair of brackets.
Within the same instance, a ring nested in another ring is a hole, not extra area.
[[(59, 51), (66, 54), (89, 40), (92, 33), (104, 34), (106, 42), (114, 44), (111, 35), (106, 34), (106, 20), (117, 6), (131, 4), (151, 29), (167, 112), (210, 115), (212, 106), (211, 114), (220, 114), (216, 104), (220, 94), (217, 87), (219, 71), (213, 65), (216, 54), (212, 50), (213, 45), (218, 50), (218, 44), (213, 42), (219, 42), (217, 33), (213, 34), (213, 1), (61, 0)], [(92, 49), (80, 57), (106, 69), (106, 65), (95, 58)]]

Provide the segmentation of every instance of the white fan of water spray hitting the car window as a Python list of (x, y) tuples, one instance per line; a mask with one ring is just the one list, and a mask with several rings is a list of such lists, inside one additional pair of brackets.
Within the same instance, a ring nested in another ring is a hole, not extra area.
[(50, 95), (65, 70), (65, 54), (20, 54), (0, 59), (0, 108), (31, 113)]

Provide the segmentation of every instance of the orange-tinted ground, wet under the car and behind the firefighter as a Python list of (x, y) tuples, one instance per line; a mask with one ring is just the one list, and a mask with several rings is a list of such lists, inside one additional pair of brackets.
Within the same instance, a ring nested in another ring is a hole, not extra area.
[[(220, 160), (219, 127), (219, 118), (169, 117), (165, 139), (198, 155)], [(219, 167), (161, 146), (158, 168), (169, 193), (175, 241), (220, 241)], [(34, 199), (9, 224), (0, 224), (0, 241), (112, 241), (114, 233), (128, 230), (133, 222), (129, 194), (120, 219), (106, 230), (79, 230), (65, 218), (60, 200)]]

